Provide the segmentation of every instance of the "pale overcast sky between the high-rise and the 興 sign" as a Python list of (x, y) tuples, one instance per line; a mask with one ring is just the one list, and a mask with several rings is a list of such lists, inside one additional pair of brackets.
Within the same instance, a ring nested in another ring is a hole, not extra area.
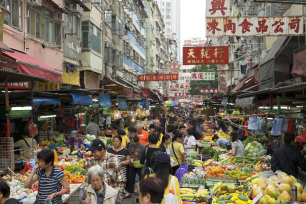
[(205, 7), (206, 0), (180, 0), (181, 45), (185, 39), (205, 36)]

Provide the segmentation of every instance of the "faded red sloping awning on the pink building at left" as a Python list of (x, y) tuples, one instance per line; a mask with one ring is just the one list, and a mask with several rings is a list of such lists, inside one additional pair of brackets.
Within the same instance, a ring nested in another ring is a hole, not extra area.
[(42, 77), (46, 80), (54, 81), (57, 83), (61, 82), (62, 74), (60, 71), (55, 70), (54, 68), (42, 63), (41, 61), (28, 54), (24, 54), (18, 51), (14, 51), (13, 53), (5, 51), (3, 54), (16, 60), (20, 73)]

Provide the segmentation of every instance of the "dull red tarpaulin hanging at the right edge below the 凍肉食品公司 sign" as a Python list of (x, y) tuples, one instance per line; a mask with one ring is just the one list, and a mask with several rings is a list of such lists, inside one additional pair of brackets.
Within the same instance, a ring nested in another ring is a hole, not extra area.
[(306, 49), (293, 53), (292, 73), (300, 76), (306, 76)]

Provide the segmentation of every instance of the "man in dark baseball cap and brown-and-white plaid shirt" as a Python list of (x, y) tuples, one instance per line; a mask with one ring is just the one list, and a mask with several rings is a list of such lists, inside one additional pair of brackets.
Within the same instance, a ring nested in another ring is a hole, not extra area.
[[(90, 147), (86, 151), (91, 151), (92, 158), (89, 159), (87, 170), (91, 166), (100, 165), (104, 169), (104, 182), (110, 187), (119, 190), (119, 197), (122, 200), (125, 194), (125, 177), (120, 164), (119, 157), (105, 150), (105, 144), (100, 139), (93, 139)], [(89, 184), (89, 179), (85, 178), (85, 187)]]

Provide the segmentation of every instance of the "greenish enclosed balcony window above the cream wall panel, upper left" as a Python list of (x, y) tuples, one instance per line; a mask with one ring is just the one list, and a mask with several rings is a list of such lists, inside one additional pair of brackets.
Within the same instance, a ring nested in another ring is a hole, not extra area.
[(82, 48), (101, 53), (101, 30), (90, 21), (82, 21)]

